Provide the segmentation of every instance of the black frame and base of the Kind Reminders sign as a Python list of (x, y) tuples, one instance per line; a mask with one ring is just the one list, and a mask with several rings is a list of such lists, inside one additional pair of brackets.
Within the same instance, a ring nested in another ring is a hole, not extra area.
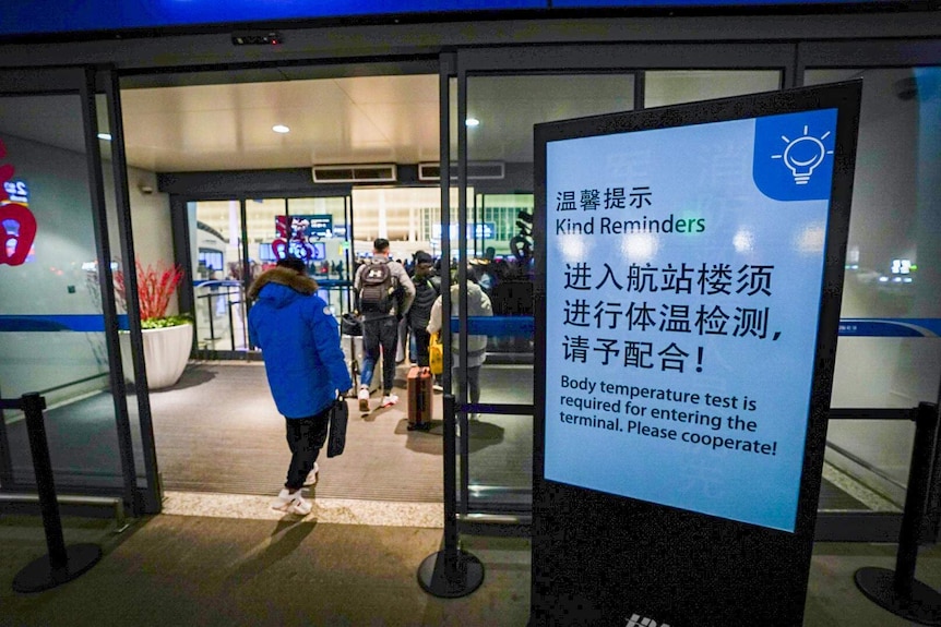
[[(853, 81), (535, 126), (531, 625), (794, 627), (802, 623), (836, 353), (860, 96), (861, 82)], [(830, 108), (837, 110), (835, 158), (815, 359), (808, 364), (813, 378), (795, 532), (546, 480), (547, 144)]]

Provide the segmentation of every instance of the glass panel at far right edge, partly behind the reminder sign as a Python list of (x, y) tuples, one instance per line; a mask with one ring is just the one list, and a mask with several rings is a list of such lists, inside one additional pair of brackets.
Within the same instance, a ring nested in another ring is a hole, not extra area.
[[(831, 402), (909, 408), (934, 402), (941, 376), (941, 346), (921, 335), (941, 330), (941, 68), (809, 70), (805, 83), (855, 77), (862, 111)], [(863, 331), (874, 336), (850, 335)], [(902, 504), (912, 437), (907, 422), (834, 421), (826, 461)]]

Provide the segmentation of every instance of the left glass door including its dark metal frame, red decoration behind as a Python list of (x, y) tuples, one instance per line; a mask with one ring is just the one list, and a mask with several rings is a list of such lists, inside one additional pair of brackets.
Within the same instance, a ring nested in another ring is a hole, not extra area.
[[(121, 366), (119, 326), (139, 338), (140, 325), (116, 308), (114, 275), (133, 251), (119, 237), (129, 225), (121, 154), (109, 145), (120, 137), (108, 123), (112, 86), (91, 70), (0, 72), (0, 395), (45, 397), (60, 494), (122, 496), (136, 513), (159, 505), (139, 492), (155, 490), (146, 389), (129, 411)], [(24, 417), (5, 411), (0, 493), (34, 486)]]

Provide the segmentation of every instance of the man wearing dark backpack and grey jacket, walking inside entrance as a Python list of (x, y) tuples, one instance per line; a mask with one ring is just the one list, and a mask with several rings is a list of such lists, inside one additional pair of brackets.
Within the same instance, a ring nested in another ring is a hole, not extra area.
[(359, 266), (353, 280), (356, 310), (362, 316), (362, 373), (359, 379), (359, 411), (369, 411), (369, 386), (382, 352), (382, 400), (380, 407), (398, 402), (392, 394), (395, 381), (395, 351), (398, 322), (415, 300), (415, 285), (398, 262), (389, 258), (389, 240), (372, 242), (372, 260)]

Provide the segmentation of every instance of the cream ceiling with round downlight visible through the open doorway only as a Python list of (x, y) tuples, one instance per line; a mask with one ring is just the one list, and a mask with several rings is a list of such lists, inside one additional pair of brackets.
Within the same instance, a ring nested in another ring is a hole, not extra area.
[(439, 157), (436, 75), (123, 89), (121, 105), (128, 164), (156, 172)]

